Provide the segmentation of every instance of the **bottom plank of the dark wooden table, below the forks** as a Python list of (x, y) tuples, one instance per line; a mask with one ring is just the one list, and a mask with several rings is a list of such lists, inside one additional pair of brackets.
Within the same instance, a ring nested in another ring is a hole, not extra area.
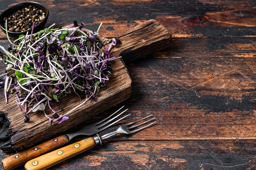
[(254, 169), (255, 147), (255, 140), (104, 142), (49, 170)]

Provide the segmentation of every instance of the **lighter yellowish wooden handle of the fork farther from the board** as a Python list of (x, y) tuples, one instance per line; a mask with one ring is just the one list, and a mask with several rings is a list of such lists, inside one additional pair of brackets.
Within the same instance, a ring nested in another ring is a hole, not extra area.
[(26, 170), (44, 170), (51, 166), (56, 165), (66, 159), (74, 157), (81, 152), (89, 150), (96, 145), (96, 142), (93, 137), (83, 139), (81, 141), (72, 143), (63, 148), (54, 150), (47, 154), (44, 154), (40, 157), (32, 159), (25, 164)]

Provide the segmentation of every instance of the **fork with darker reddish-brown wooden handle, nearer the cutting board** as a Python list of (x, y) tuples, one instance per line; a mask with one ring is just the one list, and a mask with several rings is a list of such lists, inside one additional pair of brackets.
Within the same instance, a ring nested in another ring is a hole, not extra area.
[(33, 148), (27, 149), (25, 151), (22, 151), (17, 154), (14, 154), (10, 157), (7, 157), (2, 160), (2, 166), (4, 167), (5, 170), (10, 170), (12, 168), (15, 168), (16, 166), (20, 166), (22, 163), (25, 163), (35, 157), (38, 157), (46, 152), (49, 152), (50, 150), (53, 150), (65, 143), (69, 142), (75, 136), (78, 136), (78, 135), (88, 135), (89, 136), (92, 134), (99, 133), (102, 130), (109, 128), (110, 126), (114, 125), (118, 121), (121, 121), (122, 119), (124, 119), (130, 115), (130, 114), (128, 114), (126, 116), (121, 117), (117, 121), (114, 121), (117, 117), (119, 117), (121, 114), (123, 114), (124, 112), (126, 112), (128, 110), (128, 109), (126, 109), (123, 112), (121, 112), (120, 114), (117, 114), (116, 116), (114, 116), (123, 107), (121, 107), (119, 110), (117, 110), (115, 113), (111, 114), (110, 116), (106, 117), (105, 119), (103, 119), (97, 123), (86, 125), (81, 130), (79, 130), (77, 132), (63, 134), (54, 139), (51, 139), (49, 141), (46, 141), (39, 145), (36, 145)]

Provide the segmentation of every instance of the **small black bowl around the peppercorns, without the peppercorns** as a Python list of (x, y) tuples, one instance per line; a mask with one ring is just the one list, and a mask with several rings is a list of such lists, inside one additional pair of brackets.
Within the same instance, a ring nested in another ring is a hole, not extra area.
[[(22, 2), (20, 4), (16, 4), (14, 5), (13, 7), (10, 7), (8, 9), (6, 9), (5, 11), (3, 11), (1, 14), (0, 14), (0, 28), (4, 31), (4, 33), (6, 33), (6, 30), (5, 30), (5, 21), (4, 21), (4, 18), (5, 17), (9, 17), (11, 16), (11, 14), (15, 13), (16, 11), (22, 9), (22, 8), (26, 8), (26, 7), (29, 7), (29, 5), (31, 5), (32, 7), (36, 7), (38, 8), (39, 10), (42, 10), (44, 13), (45, 13), (45, 18), (38, 24), (34, 27), (34, 30), (33, 32), (38, 32), (42, 29), (44, 29), (45, 27), (45, 24), (47, 22), (47, 19), (48, 19), (48, 16), (49, 16), (49, 10), (47, 9), (47, 7), (43, 4), (40, 4), (38, 2), (31, 2), (31, 1), (28, 1), (28, 2)], [(31, 29), (28, 29), (27, 31), (23, 31), (23, 32), (11, 32), (11, 31), (8, 31), (8, 35), (12, 38), (18, 38), (21, 34), (24, 34), (26, 35), (27, 32), (31, 33)]]

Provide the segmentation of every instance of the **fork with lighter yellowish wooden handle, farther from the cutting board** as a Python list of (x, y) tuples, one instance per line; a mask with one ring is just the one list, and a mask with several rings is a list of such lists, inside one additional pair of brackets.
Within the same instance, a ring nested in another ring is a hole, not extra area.
[[(133, 125), (133, 124), (135, 124), (139, 121), (142, 121), (144, 119), (147, 119), (151, 116), (153, 116), (153, 115), (151, 114), (151, 115), (146, 116), (146, 117), (144, 117), (142, 119), (139, 119), (137, 121), (123, 124), (116, 131), (110, 132), (110, 133), (105, 134), (103, 136), (99, 136), (99, 134), (96, 134), (93, 137), (83, 139), (81, 141), (72, 143), (72, 144), (67, 145), (63, 148), (60, 148), (58, 150), (54, 150), (54, 151), (49, 152), (47, 154), (44, 154), (40, 157), (32, 159), (32, 160), (28, 161), (25, 164), (25, 169), (26, 170), (47, 169), (51, 166), (56, 165), (57, 163), (65, 161), (66, 159), (69, 159), (71, 157), (74, 157), (77, 154), (80, 154), (80, 153), (82, 153), (86, 150), (89, 150), (97, 144), (102, 144), (103, 140), (109, 139), (110, 137), (115, 136), (116, 134), (132, 134), (132, 133), (138, 132), (140, 130), (143, 130), (143, 129), (145, 129), (145, 128), (147, 128), (147, 127), (149, 127), (149, 126), (151, 126), (151, 125), (153, 125), (154, 123), (157, 122), (157, 121), (154, 121), (152, 123), (149, 123), (149, 122), (153, 121), (155, 119), (155, 117), (152, 118), (152, 119), (149, 119), (147, 121), (144, 121), (143, 123), (140, 123), (138, 125), (134, 125), (134, 126), (130, 126), (130, 125)], [(149, 123), (149, 124), (144, 125), (146, 123)], [(144, 125), (144, 126), (141, 127), (141, 128), (137, 128), (141, 125)]]

